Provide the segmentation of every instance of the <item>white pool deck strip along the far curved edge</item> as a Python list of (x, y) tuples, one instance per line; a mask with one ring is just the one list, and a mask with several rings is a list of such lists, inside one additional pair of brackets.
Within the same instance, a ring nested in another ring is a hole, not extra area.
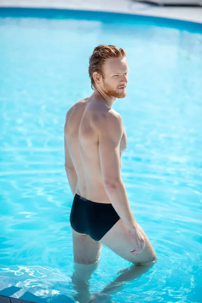
[(133, 0), (0, 0), (0, 8), (63, 9), (122, 13), (202, 24), (202, 7), (163, 7)]

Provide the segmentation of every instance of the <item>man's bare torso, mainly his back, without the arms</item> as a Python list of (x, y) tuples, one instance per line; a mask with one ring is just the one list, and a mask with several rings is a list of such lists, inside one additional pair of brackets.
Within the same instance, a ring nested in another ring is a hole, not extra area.
[[(105, 119), (109, 111), (119, 115), (93, 97), (82, 99), (67, 112), (64, 129), (69, 154), (78, 177), (76, 193), (97, 203), (110, 203), (110, 199), (103, 183), (98, 151), (99, 138), (93, 125), (99, 117)], [(121, 154), (127, 144), (123, 125), (120, 137), (121, 162)]]

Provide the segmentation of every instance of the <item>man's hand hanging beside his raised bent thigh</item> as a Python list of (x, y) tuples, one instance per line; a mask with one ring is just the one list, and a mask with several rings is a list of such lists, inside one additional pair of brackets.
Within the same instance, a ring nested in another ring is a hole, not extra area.
[(145, 248), (144, 236), (141, 234), (138, 227), (135, 227), (133, 230), (129, 230), (129, 236), (132, 244), (134, 245), (134, 249), (130, 250), (130, 252), (137, 256)]

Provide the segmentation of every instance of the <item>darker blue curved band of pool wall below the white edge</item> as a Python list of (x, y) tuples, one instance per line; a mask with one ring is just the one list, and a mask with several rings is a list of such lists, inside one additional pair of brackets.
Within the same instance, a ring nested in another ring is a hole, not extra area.
[(149, 23), (151, 25), (169, 27), (174, 29), (186, 30), (194, 33), (202, 34), (202, 23), (185, 21), (179, 19), (171, 19), (165, 17), (145, 16), (126, 13), (113, 13), (102, 11), (84, 11), (84, 10), (68, 10), (54, 8), (0, 8), (0, 17), (10, 18), (42, 18), (42, 19), (78, 19), (88, 21), (100, 21), (107, 23)]

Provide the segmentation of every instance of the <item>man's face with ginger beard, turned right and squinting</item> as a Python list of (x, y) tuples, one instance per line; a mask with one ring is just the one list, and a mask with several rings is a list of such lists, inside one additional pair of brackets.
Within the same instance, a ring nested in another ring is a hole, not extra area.
[(127, 94), (127, 73), (126, 58), (107, 59), (103, 65), (103, 77), (100, 82), (105, 93), (115, 98), (124, 98)]

